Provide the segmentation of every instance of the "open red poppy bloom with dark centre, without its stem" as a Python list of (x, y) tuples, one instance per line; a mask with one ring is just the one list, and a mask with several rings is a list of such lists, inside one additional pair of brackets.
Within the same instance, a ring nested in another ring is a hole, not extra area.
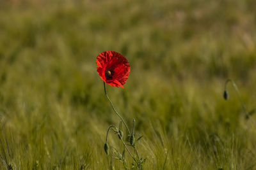
[(127, 59), (118, 52), (106, 51), (97, 56), (97, 72), (100, 78), (113, 87), (123, 87), (130, 73)]

